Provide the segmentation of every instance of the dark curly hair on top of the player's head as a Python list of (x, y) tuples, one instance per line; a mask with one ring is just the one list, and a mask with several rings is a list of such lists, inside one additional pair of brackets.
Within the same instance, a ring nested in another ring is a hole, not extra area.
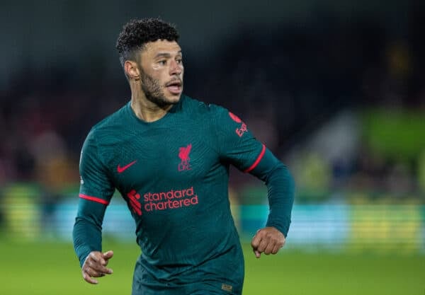
[(142, 18), (126, 23), (116, 45), (121, 66), (124, 67), (125, 61), (129, 59), (137, 61), (137, 52), (142, 50), (147, 42), (157, 40), (178, 41), (179, 33), (174, 25), (159, 18)]

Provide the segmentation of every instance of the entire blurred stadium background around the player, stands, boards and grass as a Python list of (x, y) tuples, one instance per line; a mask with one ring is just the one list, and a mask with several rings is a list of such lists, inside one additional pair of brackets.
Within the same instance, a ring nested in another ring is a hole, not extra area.
[[(285, 250), (254, 261), (246, 247), (244, 294), (425, 294), (421, 0), (1, 1), (0, 294), (130, 294), (120, 196), (109, 284), (82, 282), (71, 233), (81, 144), (130, 98), (116, 37), (147, 16), (180, 30), (185, 93), (242, 117), (295, 176)], [(249, 243), (266, 190), (231, 178)]]

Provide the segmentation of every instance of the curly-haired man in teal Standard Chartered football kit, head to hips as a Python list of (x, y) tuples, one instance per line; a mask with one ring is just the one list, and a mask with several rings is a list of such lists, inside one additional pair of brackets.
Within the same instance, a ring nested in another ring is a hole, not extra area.
[(244, 259), (230, 214), (229, 164), (263, 180), (270, 215), (251, 241), (254, 254), (285, 243), (293, 204), (288, 170), (236, 115), (182, 94), (176, 29), (130, 21), (117, 49), (131, 100), (94, 126), (81, 151), (74, 248), (86, 282), (111, 274), (101, 224), (118, 190), (135, 219), (132, 294), (241, 294)]

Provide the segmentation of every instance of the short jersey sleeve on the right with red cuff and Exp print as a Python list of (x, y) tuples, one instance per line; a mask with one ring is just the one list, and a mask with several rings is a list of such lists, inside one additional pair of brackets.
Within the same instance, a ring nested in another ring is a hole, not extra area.
[(237, 115), (217, 105), (210, 105), (210, 108), (215, 113), (213, 124), (220, 158), (239, 170), (250, 172), (261, 161), (266, 146), (249, 132)]

